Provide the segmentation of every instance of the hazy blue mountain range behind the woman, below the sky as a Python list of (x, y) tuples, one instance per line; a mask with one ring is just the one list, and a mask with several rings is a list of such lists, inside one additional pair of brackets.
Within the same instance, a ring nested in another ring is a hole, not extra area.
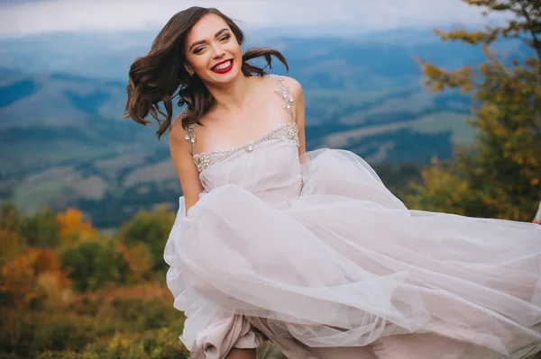
[[(156, 126), (122, 120), (127, 70), (151, 39), (143, 32), (0, 40), (0, 198), (28, 212), (76, 205), (98, 227), (158, 203), (175, 206), (167, 139), (155, 138)], [(280, 49), (287, 75), (303, 85), (308, 149), (346, 148), (373, 165), (425, 164), (472, 140), (470, 98), (428, 93), (416, 58), (453, 69), (480, 62), (481, 49), (406, 30), (252, 34), (251, 46)], [(497, 46), (516, 56), (524, 50)], [(271, 72), (286, 74), (278, 64)]]

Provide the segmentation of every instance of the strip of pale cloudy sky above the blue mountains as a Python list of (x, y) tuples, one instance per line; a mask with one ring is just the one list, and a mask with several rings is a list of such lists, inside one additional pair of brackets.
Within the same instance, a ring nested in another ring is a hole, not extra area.
[(344, 33), (483, 22), (480, 9), (461, 0), (0, 0), (0, 37), (160, 29), (192, 5), (216, 7), (248, 29)]

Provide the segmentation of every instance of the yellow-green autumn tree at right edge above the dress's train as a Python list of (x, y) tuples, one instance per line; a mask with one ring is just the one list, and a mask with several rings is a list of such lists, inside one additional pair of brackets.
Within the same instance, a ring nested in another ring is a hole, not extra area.
[[(423, 62), (425, 84), (432, 91), (460, 89), (472, 94), (472, 119), (478, 135), (472, 148), (460, 148), (452, 172), (468, 201), (463, 214), (509, 220), (531, 220), (541, 198), (541, 1), (463, 0), (480, 6), (485, 15), (512, 17), (481, 31), (436, 31), (442, 40), (481, 45), (486, 61), (454, 71)], [(526, 44), (526, 58), (502, 58), (491, 50), (496, 40)], [(424, 176), (428, 173), (425, 171)], [(431, 195), (438, 193), (434, 183)], [(445, 196), (449, 188), (439, 194)], [(420, 191), (412, 202), (422, 202)], [(453, 206), (456, 204), (453, 203)], [(437, 210), (447, 211), (443, 206)]]

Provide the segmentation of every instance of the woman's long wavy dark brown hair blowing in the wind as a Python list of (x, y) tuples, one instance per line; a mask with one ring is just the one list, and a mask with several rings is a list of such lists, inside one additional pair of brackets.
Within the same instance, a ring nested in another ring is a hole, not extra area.
[[(234, 33), (240, 45), (243, 45), (244, 34), (241, 29), (225, 14), (215, 8), (193, 6), (176, 13), (161, 29), (152, 41), (151, 50), (141, 58), (135, 59), (129, 72), (129, 84), (126, 87), (128, 100), (125, 106), (124, 118), (146, 125), (152, 121), (145, 117), (151, 112), (158, 121), (156, 132), (158, 139), (170, 129), (173, 115), (172, 99), (179, 97), (178, 105), (188, 106), (188, 112), (182, 118), (182, 127), (186, 129), (192, 123), (208, 112), (215, 103), (206, 85), (198, 76), (189, 76), (184, 67), (186, 61), (184, 45), (188, 32), (206, 14), (215, 13), (220, 16)], [(264, 76), (265, 67), (272, 68), (271, 56), (280, 60), (289, 71), (288, 62), (276, 49), (252, 48), (244, 51), (241, 70), (244, 76)], [(267, 66), (256, 67), (248, 60), (264, 58)], [(163, 109), (160, 107), (163, 104)], [(165, 110), (165, 111), (164, 111)]]

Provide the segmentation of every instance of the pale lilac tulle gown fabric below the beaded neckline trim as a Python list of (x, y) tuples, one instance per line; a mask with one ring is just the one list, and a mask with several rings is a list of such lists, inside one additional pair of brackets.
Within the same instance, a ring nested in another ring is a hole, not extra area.
[(362, 158), (299, 159), (289, 140), (209, 166), (201, 182), (188, 215), (180, 198), (165, 249), (194, 352), (208, 328), (225, 350), (264, 333), (290, 358), (541, 350), (541, 226), (408, 211)]

